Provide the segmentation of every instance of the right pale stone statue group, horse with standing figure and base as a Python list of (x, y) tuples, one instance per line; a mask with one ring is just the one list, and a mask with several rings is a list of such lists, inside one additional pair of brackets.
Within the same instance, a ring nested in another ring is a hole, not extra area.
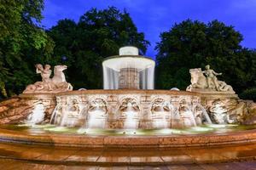
[(213, 71), (210, 69), (210, 65), (206, 65), (205, 71), (201, 71), (201, 68), (195, 68), (190, 69), (189, 73), (191, 75), (191, 84), (187, 88), (187, 91), (218, 91), (235, 94), (230, 85), (218, 80), (217, 76), (222, 75), (222, 73)]

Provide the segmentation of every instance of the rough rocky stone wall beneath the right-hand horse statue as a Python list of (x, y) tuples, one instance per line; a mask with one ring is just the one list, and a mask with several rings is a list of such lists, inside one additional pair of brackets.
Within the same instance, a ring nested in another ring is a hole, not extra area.
[(230, 92), (199, 91), (201, 104), (206, 108), (212, 122), (255, 124), (256, 104), (251, 100), (242, 100)]

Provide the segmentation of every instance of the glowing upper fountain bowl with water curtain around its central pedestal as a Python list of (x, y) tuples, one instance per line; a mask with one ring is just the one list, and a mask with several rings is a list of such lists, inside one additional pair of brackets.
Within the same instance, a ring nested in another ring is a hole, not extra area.
[(154, 65), (138, 48), (120, 48), (119, 55), (102, 63), (104, 89), (154, 89)]

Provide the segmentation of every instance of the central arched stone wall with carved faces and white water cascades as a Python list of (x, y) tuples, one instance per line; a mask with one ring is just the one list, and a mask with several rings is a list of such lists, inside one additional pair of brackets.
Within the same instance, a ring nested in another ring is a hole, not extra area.
[(52, 122), (61, 126), (152, 129), (192, 127), (202, 123), (195, 120), (195, 115), (201, 115), (201, 111), (193, 108), (201, 105), (201, 100), (194, 93), (84, 90), (58, 94), (57, 98), (53, 117), (61, 122)]

